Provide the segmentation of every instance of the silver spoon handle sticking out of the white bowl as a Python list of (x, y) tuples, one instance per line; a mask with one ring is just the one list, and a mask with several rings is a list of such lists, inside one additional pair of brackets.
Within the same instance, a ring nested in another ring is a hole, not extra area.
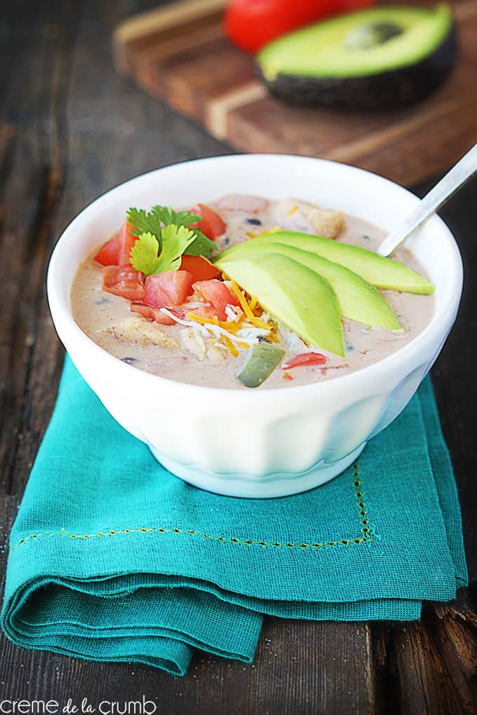
[(393, 231), (378, 248), (380, 256), (390, 256), (411, 233), (436, 212), (477, 171), (477, 144), (426, 194), (398, 230)]

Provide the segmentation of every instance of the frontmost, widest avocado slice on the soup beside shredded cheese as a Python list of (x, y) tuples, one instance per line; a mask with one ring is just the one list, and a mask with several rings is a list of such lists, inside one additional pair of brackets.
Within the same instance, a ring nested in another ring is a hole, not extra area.
[(345, 356), (338, 300), (318, 273), (275, 253), (240, 255), (217, 267), (305, 342)]

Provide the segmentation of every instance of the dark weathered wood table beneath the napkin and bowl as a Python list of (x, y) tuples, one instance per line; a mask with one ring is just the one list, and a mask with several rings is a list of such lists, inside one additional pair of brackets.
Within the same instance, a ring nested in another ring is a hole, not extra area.
[[(112, 29), (124, 16), (154, 5), (157, 1), (2, 3), (2, 579), (9, 528), (62, 369), (63, 351), (45, 295), (51, 247), (72, 217), (114, 184), (182, 159), (230, 152), (112, 69)], [(461, 245), (466, 287), (433, 379), (456, 469), (475, 584), (477, 181), (442, 215)], [(0, 636), (0, 701), (56, 699), (66, 704), (69, 698), (87, 697), (93, 704), (104, 699), (122, 703), (144, 694), (157, 704), (159, 714), (175, 715), (473, 713), (476, 596), (474, 585), (455, 603), (427, 604), (421, 623), (268, 618), (255, 664), (197, 656), (184, 679), (145, 666), (24, 651)]]

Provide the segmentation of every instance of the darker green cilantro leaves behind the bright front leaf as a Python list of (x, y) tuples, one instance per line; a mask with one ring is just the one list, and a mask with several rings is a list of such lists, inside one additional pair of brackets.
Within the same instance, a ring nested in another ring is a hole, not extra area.
[[(191, 223), (196, 223), (197, 221), (202, 221), (202, 216), (194, 214), (190, 211), (174, 211), (170, 206), (153, 206), (152, 209), (147, 212), (144, 209), (131, 208), (127, 212), (127, 220), (130, 225), (132, 225), (131, 233), (133, 236), (141, 238), (144, 234), (150, 234), (156, 237), (159, 244), (158, 252), (162, 253), (162, 230), (164, 227), (169, 225), (174, 225), (175, 227), (187, 227)], [(190, 229), (194, 239), (188, 242), (187, 247), (183, 253), (187, 253), (192, 256), (206, 256), (209, 257), (212, 250), (215, 248), (215, 244), (207, 236), (205, 236), (199, 228)], [(146, 244), (144, 244), (146, 245)], [(149, 245), (152, 245), (149, 240)], [(150, 250), (149, 250), (150, 253)], [(182, 254), (181, 254), (182, 255)], [(142, 270), (137, 268), (136, 265), (132, 264), (136, 270)], [(164, 269), (162, 270), (174, 270), (174, 269)], [(154, 272), (161, 272), (154, 271)]]

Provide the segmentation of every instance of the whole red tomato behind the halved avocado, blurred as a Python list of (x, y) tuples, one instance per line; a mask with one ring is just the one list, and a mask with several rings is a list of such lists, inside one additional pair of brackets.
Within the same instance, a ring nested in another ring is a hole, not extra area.
[(375, 0), (231, 0), (225, 10), (225, 34), (248, 52), (256, 52), (315, 20), (373, 5)]

